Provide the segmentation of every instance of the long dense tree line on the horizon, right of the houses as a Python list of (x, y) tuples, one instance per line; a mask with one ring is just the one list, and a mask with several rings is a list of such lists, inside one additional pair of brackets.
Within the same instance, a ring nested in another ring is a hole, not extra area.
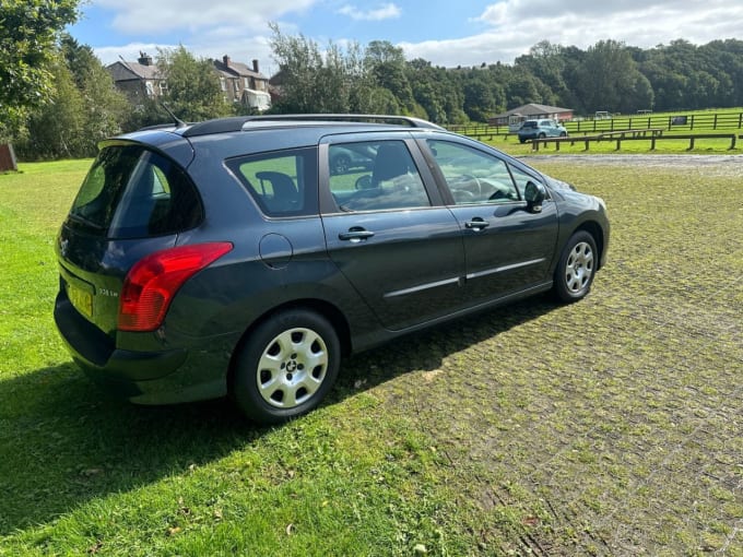
[(743, 106), (738, 39), (704, 46), (677, 39), (649, 49), (610, 39), (586, 50), (543, 40), (512, 64), (447, 69), (406, 60), (388, 42), (321, 49), (302, 35), (273, 32), (282, 84), (276, 111), (394, 112), (452, 125), (529, 103), (583, 115)]

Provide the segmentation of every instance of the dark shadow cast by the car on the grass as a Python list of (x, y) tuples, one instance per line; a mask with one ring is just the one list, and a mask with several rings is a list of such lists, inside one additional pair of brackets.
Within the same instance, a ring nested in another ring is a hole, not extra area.
[[(536, 297), (356, 355), (322, 406), (413, 369), (436, 369), (447, 355), (555, 307)], [(250, 424), (224, 399), (130, 404), (102, 392), (72, 363), (0, 382), (0, 535), (213, 462), (272, 430)]]

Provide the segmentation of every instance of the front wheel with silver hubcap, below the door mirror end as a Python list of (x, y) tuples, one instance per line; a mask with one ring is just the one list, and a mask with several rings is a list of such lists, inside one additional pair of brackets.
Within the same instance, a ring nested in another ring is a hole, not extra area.
[(554, 292), (562, 301), (578, 301), (591, 289), (598, 251), (595, 240), (586, 230), (570, 236), (555, 269)]

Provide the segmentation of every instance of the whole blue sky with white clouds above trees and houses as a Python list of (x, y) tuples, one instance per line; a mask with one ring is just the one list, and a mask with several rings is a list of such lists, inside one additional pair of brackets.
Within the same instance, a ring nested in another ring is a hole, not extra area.
[(544, 39), (649, 48), (743, 38), (743, 3), (731, 0), (90, 0), (82, 12), (70, 33), (104, 63), (182, 44), (199, 57), (258, 59), (266, 74), (278, 70), (269, 22), (321, 47), (389, 40), (445, 67), (511, 63)]

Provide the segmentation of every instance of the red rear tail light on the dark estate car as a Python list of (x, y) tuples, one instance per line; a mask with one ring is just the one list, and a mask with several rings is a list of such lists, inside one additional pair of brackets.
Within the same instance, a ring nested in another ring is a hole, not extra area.
[(178, 288), (233, 249), (228, 241), (180, 246), (140, 259), (123, 280), (120, 331), (154, 331), (165, 319)]

